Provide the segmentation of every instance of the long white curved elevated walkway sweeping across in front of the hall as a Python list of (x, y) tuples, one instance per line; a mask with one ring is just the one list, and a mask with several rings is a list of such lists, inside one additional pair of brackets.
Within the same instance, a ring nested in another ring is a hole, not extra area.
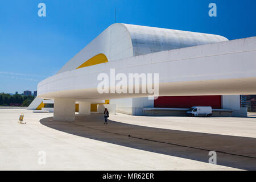
[(147, 94), (100, 94), (100, 73), (159, 73), (159, 96), (255, 94), (256, 37), (161, 51), (63, 72), (38, 84), (38, 97), (114, 99)]

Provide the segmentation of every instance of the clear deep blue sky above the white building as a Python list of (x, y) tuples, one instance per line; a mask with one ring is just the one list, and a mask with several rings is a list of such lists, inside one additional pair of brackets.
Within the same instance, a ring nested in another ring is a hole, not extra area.
[[(38, 4), (46, 4), (46, 17)], [(217, 17), (208, 15), (216, 3)], [(98, 34), (117, 22), (256, 36), (255, 0), (5, 0), (0, 2), (0, 92), (36, 90)]]

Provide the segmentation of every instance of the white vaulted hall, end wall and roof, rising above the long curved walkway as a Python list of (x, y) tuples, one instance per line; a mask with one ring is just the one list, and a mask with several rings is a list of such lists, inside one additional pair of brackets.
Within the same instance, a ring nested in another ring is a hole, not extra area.
[(106, 55), (108, 61), (114, 61), (226, 40), (228, 39), (219, 35), (114, 23), (69, 60), (57, 74), (76, 69), (86, 60), (100, 53)]

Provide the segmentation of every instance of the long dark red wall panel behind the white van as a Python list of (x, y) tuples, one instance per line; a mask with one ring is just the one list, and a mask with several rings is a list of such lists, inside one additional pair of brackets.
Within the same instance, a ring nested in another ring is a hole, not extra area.
[(190, 108), (193, 106), (212, 106), (221, 109), (221, 96), (165, 96), (154, 101), (154, 107)]

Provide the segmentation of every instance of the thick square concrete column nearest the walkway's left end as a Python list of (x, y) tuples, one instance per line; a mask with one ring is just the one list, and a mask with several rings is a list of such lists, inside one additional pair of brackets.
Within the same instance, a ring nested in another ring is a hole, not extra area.
[(75, 121), (75, 107), (74, 98), (55, 98), (53, 120)]

